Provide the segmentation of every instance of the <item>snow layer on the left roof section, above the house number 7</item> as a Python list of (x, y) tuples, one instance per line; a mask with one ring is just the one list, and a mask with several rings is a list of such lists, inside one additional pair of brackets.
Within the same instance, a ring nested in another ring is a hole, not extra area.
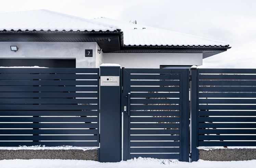
[(48, 10), (33, 10), (0, 13), (0, 31), (2, 30), (66, 30), (66, 31), (114, 31), (113, 27), (107, 23), (66, 15), (63, 13)]

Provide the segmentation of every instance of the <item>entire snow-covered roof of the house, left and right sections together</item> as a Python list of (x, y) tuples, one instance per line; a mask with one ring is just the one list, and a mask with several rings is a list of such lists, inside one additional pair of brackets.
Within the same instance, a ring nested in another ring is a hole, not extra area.
[(109, 18), (88, 20), (48, 10), (0, 13), (0, 31), (115, 31), (117, 29), (123, 31), (125, 46), (229, 46), (229, 43), (223, 41), (116, 21)]

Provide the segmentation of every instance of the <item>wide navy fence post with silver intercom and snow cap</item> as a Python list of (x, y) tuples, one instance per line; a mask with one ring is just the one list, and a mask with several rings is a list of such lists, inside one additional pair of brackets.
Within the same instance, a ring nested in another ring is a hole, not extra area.
[(120, 65), (100, 66), (100, 162), (121, 160)]

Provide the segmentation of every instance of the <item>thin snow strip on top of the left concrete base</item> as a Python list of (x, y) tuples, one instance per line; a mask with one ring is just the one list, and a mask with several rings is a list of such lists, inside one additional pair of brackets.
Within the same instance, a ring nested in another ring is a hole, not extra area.
[(18, 146), (18, 147), (0, 147), (0, 150), (93, 150), (97, 147), (80, 147), (80, 146)]

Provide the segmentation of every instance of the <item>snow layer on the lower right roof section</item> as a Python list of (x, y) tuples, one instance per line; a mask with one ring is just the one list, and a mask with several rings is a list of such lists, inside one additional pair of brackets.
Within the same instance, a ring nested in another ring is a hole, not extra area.
[(104, 17), (94, 20), (121, 27), (121, 31), (124, 32), (125, 46), (229, 46), (228, 42), (116, 21)]

